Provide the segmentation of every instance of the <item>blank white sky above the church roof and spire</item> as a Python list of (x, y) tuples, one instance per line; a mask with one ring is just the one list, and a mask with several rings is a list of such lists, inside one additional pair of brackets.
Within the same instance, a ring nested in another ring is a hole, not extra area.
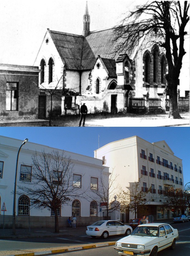
[[(90, 30), (111, 28), (143, 1), (88, 0)], [(82, 35), (86, 0), (1, 0), (0, 63), (33, 65), (47, 28)]]

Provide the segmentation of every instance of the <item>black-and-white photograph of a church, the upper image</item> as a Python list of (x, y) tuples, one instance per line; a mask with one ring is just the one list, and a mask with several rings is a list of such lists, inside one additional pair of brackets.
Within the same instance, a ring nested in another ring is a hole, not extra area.
[(188, 1), (1, 0), (0, 24), (0, 126), (189, 126)]

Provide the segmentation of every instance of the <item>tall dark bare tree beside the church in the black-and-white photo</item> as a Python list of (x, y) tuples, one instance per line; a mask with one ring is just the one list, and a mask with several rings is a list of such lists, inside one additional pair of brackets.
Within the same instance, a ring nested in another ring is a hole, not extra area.
[[(117, 51), (132, 51), (145, 34), (154, 32), (160, 41), (156, 41), (166, 50), (168, 62), (167, 92), (170, 98), (169, 117), (181, 118), (177, 104), (177, 85), (182, 66), (184, 37), (189, 22), (189, 3), (187, 1), (148, 1), (136, 6), (134, 11), (115, 29), (118, 44)], [(127, 24), (127, 25), (126, 25)], [(150, 38), (151, 41), (151, 38)], [(155, 43), (155, 42), (152, 42)]]

